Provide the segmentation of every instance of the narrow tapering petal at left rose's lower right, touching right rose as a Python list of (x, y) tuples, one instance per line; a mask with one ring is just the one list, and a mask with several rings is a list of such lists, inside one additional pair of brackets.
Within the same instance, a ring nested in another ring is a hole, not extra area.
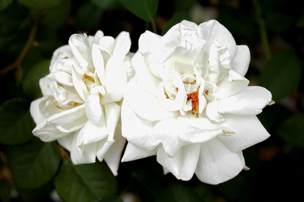
[(114, 140), (114, 134), (120, 117), (120, 106), (115, 102), (104, 105), (105, 121), (108, 130), (108, 141)]

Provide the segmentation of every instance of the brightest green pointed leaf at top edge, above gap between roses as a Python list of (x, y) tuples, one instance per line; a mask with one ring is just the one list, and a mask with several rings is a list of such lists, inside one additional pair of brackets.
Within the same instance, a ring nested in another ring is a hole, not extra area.
[(121, 3), (137, 17), (151, 22), (156, 16), (158, 0), (121, 0)]

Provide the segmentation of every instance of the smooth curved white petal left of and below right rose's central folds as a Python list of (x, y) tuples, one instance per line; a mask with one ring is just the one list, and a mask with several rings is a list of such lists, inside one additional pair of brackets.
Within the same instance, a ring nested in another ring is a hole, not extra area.
[(138, 117), (148, 121), (157, 121), (169, 119), (179, 114), (179, 111), (169, 111), (164, 109), (158, 101), (158, 98), (145, 91), (136, 84), (136, 79), (131, 79), (126, 85), (124, 100), (135, 111)]

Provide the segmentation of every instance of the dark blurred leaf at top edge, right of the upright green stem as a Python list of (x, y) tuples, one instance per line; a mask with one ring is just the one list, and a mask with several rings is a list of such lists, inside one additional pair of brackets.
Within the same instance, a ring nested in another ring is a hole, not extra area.
[(300, 6), (292, 0), (260, 0), (262, 16), (266, 27), (271, 31), (283, 31), (290, 27), (296, 20), (296, 13)]

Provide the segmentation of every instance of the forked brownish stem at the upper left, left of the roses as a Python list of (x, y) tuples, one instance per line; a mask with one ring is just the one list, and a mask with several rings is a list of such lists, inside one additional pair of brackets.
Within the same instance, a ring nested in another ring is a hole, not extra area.
[(14, 70), (14, 69), (18, 69), (19, 75), (22, 75), (21, 62), (24, 59), (24, 57), (26, 56), (26, 54), (29, 51), (29, 49), (32, 46), (32, 44), (33, 44), (33, 41), (34, 41), (34, 38), (35, 38), (35, 35), (36, 35), (36, 32), (37, 32), (37, 25), (38, 25), (38, 22), (34, 21), (34, 23), (32, 25), (31, 32), (29, 34), (29, 38), (28, 38), (25, 46), (21, 50), (21, 52), (20, 52), (17, 60), (15, 62), (11, 63), (10, 65), (8, 65), (7, 67), (3, 68), (0, 71), (0, 76), (4, 75), (4, 74), (6, 74), (9, 71)]

